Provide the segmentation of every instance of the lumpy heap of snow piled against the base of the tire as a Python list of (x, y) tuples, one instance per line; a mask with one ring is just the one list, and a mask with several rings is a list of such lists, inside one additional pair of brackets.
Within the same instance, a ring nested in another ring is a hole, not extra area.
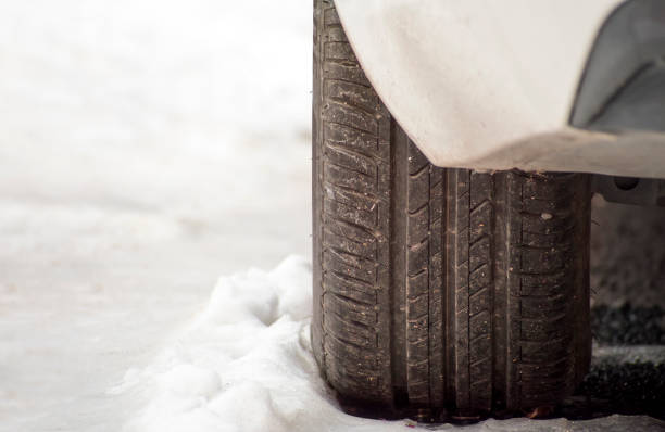
[(468, 427), (418, 425), (343, 414), (318, 376), (310, 345), (311, 265), (290, 256), (266, 272), (223, 277), (210, 303), (151, 366), (112, 394), (142, 394), (125, 432), (390, 432), (623, 430), (651, 419), (524, 418)]

